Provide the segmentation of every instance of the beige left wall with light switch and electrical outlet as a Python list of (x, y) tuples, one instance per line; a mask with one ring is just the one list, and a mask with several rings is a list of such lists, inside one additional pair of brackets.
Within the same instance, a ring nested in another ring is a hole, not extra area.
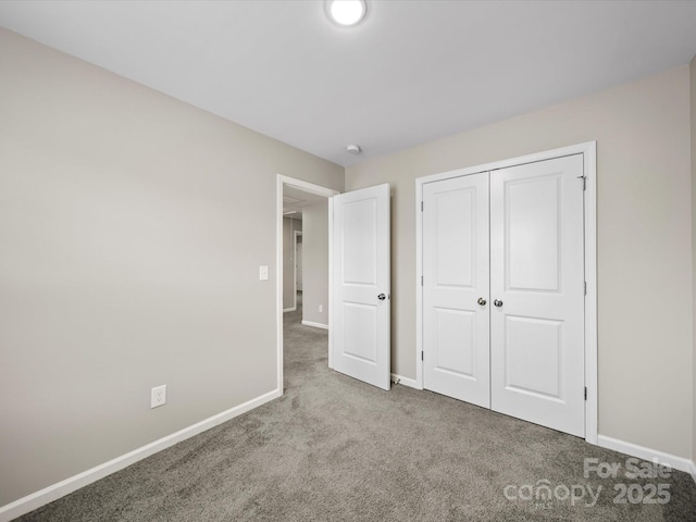
[(4, 29), (0, 77), (2, 506), (274, 390), (276, 175), (344, 170)]

